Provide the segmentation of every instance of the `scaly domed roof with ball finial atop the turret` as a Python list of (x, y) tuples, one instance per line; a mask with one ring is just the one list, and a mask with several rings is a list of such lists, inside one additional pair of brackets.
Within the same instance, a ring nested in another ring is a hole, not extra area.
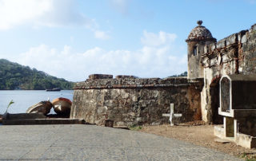
[(189, 36), (186, 39), (188, 41), (216, 41), (216, 39), (211, 35), (209, 29), (202, 26), (202, 21), (198, 21), (198, 26), (190, 31)]

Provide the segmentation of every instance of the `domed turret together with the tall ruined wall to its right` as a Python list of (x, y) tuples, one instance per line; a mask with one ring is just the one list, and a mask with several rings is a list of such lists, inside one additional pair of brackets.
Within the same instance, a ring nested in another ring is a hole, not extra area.
[(209, 29), (198, 26), (186, 39), (188, 46), (188, 79), (203, 78), (201, 92), (202, 120), (220, 124), (218, 115), (219, 80), (227, 74), (256, 73), (256, 24), (216, 41)]

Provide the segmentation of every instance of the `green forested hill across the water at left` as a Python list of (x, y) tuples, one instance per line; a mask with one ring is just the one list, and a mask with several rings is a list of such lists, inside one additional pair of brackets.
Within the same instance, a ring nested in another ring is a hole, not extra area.
[(72, 89), (74, 83), (52, 77), (37, 69), (0, 59), (0, 90), (1, 89), (34, 89), (46, 88)]

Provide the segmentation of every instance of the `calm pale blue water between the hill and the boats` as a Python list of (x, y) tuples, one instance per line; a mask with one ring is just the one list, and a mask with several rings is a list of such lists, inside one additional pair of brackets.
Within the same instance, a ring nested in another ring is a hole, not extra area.
[[(6, 112), (7, 105), (10, 100), (14, 101), (14, 104), (10, 105), (8, 112), (10, 113), (24, 113), (26, 109), (37, 104), (42, 100), (54, 100), (58, 97), (65, 97), (73, 100), (73, 90), (62, 90), (60, 92), (46, 92), (46, 91), (27, 91), (27, 90), (0, 90), (0, 114)], [(53, 109), (50, 113), (54, 113)]]

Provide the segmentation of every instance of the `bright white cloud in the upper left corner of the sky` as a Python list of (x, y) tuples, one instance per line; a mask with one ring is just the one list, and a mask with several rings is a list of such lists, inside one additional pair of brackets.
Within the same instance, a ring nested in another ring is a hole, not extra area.
[(78, 13), (73, 0), (0, 0), (0, 29), (16, 26), (84, 26), (96, 38), (109, 37), (94, 19)]

